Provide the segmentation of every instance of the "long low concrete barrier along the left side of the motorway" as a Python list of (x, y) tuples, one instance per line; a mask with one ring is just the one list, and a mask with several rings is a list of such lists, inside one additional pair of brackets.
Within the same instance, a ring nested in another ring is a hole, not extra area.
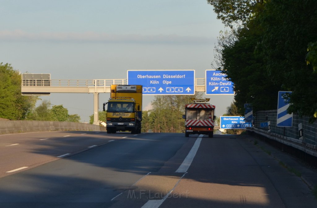
[(106, 131), (106, 127), (60, 121), (0, 121), (0, 134), (36, 131)]

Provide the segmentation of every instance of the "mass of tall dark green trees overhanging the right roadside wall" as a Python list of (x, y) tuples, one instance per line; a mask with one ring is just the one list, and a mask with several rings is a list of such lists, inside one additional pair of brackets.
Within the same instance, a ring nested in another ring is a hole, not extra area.
[(243, 22), (231, 33), (234, 38), (218, 39), (217, 51), (219, 68), (234, 83), (239, 112), (244, 103), (255, 111), (276, 109), (277, 91), (293, 91), (288, 111), (313, 119), (317, 1), (207, 1), (226, 25)]

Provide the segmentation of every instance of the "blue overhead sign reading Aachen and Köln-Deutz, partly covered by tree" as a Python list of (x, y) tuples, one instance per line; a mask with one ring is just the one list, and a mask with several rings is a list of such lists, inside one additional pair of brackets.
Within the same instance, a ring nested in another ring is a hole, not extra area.
[(233, 83), (219, 70), (206, 70), (206, 95), (234, 95)]

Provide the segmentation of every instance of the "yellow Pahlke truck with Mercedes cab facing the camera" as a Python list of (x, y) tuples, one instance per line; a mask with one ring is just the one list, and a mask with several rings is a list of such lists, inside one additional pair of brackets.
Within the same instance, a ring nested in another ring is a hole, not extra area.
[(142, 85), (111, 85), (110, 94), (108, 102), (103, 104), (103, 110), (107, 111), (107, 133), (141, 133)]

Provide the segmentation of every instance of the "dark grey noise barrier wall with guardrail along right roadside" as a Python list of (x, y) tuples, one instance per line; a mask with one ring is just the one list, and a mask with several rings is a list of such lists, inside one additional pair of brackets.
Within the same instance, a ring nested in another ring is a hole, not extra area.
[[(317, 122), (309, 123), (308, 117), (294, 114), (292, 127), (277, 127), (276, 118), (277, 110), (257, 111), (254, 114), (254, 126), (247, 128), (247, 131), (317, 167)], [(261, 127), (262, 122), (268, 121), (270, 128)], [(300, 129), (299, 126), (302, 128)]]

